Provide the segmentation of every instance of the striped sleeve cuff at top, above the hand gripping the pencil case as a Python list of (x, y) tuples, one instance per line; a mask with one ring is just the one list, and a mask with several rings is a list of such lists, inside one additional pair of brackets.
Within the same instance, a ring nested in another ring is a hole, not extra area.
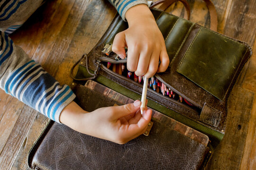
[(110, 0), (112, 5), (117, 9), (119, 15), (122, 17), (123, 20), (125, 19), (125, 13), (126, 11), (138, 4), (146, 4), (146, 0)]

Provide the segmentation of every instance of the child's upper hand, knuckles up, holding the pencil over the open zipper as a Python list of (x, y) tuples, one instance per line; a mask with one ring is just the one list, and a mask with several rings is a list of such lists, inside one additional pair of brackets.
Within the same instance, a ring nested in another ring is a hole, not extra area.
[(137, 76), (149, 78), (156, 71), (164, 72), (169, 65), (169, 57), (163, 35), (149, 8), (145, 4), (136, 5), (128, 9), (126, 19), (129, 28), (116, 35), (112, 51), (124, 59), (124, 47), (127, 47), (127, 68), (135, 71)]

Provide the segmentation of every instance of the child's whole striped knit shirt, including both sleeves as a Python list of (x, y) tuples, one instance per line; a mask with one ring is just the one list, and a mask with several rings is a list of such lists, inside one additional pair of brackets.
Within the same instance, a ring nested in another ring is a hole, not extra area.
[[(75, 98), (68, 85), (60, 85), (9, 34), (17, 30), (43, 0), (0, 0), (0, 87), (48, 118), (59, 122), (61, 111)], [(125, 20), (126, 11), (146, 0), (110, 0)], [(59, 122), (60, 123), (60, 122)]]

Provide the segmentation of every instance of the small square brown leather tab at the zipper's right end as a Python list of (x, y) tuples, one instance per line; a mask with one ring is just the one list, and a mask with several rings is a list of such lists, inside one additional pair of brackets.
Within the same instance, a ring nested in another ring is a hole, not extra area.
[(221, 115), (221, 111), (212, 108), (207, 103), (204, 103), (200, 114), (200, 120), (211, 126), (218, 127)]

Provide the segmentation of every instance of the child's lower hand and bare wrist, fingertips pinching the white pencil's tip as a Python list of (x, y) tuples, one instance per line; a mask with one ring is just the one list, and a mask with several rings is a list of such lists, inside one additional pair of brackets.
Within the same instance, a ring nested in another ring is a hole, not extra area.
[(74, 108), (65, 109), (60, 117), (60, 121), (65, 125), (78, 132), (118, 144), (125, 144), (143, 134), (152, 114), (152, 110), (146, 110), (141, 116), (139, 101), (122, 106), (100, 108), (90, 113), (84, 113), (81, 108), (79, 109), (81, 113), (72, 113), (76, 110)]

